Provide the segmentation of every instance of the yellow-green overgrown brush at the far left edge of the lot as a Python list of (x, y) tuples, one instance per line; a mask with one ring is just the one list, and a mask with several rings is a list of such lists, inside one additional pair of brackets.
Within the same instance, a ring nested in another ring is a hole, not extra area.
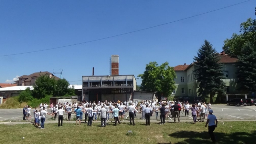
[(19, 102), (19, 97), (8, 98), (3, 104), (0, 105), (1, 109), (17, 109), (26, 106), (26, 102)]

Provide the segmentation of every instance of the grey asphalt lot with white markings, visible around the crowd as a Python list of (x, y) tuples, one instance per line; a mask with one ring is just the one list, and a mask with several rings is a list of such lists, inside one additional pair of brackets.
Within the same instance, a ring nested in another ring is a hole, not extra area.
[[(213, 114), (216, 115), (218, 120), (226, 119), (226, 120), (256, 120), (256, 106), (226, 106), (226, 105), (212, 105)], [(49, 113), (51, 113), (51, 110), (47, 110)], [(33, 110), (32, 112), (32, 119), (33, 117)], [(185, 113), (180, 113), (180, 119), (182, 120), (192, 120), (191, 112), (189, 113), (189, 117), (185, 117)], [(72, 114), (74, 115), (74, 114)], [(141, 119), (141, 114), (136, 113), (137, 120)], [(51, 117), (50, 115), (47, 115), (47, 117)], [(67, 117), (67, 115), (64, 115), (64, 118)], [(73, 116), (72, 116), (73, 117)], [(109, 115), (111, 118), (111, 114)], [(129, 114), (125, 113), (125, 118), (129, 119)], [(17, 121), (22, 120), (23, 114), (22, 109), (0, 109), (0, 122), (1, 121)], [(83, 117), (84, 119), (84, 117)], [(155, 120), (156, 116), (153, 114), (153, 117), (150, 119)], [(171, 118), (173, 120), (173, 118)], [(169, 120), (171, 120), (169, 119)], [(47, 120), (47, 119), (46, 119)], [(160, 116), (159, 116), (160, 120)]]

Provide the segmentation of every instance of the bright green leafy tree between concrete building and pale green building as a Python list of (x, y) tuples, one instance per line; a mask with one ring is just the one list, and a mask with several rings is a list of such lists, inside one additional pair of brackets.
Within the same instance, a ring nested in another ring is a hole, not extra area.
[(138, 75), (138, 78), (142, 79), (142, 91), (155, 92), (158, 96), (163, 94), (168, 97), (176, 88), (174, 81), (176, 74), (168, 62), (160, 66), (157, 62), (150, 62), (146, 65), (144, 73)]

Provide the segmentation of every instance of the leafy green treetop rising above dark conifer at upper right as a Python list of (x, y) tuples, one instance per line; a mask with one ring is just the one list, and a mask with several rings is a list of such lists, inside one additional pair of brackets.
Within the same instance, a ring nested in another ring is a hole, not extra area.
[[(230, 39), (224, 41), (222, 49), (226, 54), (238, 56), (241, 54), (242, 47), (250, 42), (256, 45), (256, 20), (251, 18), (240, 24), (240, 33), (233, 33)], [(254, 47), (255, 48), (255, 47)], [(254, 49), (256, 51), (256, 49)]]

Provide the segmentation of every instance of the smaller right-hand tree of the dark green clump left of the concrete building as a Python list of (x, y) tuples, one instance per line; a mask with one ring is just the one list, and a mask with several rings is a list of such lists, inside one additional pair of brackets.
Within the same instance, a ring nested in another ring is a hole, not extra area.
[(69, 93), (69, 85), (70, 84), (65, 78), (57, 80), (56, 87), (54, 89), (54, 96), (64, 96)]

